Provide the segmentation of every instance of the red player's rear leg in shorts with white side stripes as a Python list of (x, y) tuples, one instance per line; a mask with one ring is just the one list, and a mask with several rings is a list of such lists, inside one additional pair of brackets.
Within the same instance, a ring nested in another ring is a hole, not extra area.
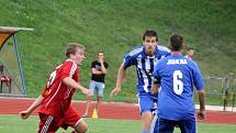
[(55, 133), (59, 129), (52, 115), (40, 113), (40, 119), (37, 133)]

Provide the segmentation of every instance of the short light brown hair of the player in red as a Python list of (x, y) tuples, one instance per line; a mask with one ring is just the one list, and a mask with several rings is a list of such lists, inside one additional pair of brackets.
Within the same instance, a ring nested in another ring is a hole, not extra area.
[(85, 46), (82, 44), (78, 44), (78, 43), (69, 43), (66, 46), (65, 49), (65, 55), (66, 57), (70, 57), (70, 54), (76, 54), (77, 48), (85, 51)]

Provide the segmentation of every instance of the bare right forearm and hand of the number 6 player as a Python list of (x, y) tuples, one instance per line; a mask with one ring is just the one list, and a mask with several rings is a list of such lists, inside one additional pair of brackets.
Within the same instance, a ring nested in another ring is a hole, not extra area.
[(199, 103), (200, 110), (198, 117), (200, 120), (205, 119), (205, 91), (204, 89), (199, 90)]

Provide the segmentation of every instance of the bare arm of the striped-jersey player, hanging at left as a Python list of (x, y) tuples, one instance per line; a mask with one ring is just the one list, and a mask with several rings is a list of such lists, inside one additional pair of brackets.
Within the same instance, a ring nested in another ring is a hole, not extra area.
[(119, 74), (117, 74), (117, 79), (116, 79), (116, 86), (111, 91), (110, 97), (116, 96), (121, 91), (121, 85), (122, 85), (122, 81), (123, 81), (123, 79), (125, 77), (125, 71), (126, 71), (126, 69), (124, 68), (124, 64), (122, 63), (122, 65), (119, 68)]

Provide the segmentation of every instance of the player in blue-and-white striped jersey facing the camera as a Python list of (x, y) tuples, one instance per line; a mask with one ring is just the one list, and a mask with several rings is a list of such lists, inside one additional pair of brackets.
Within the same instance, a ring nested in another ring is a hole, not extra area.
[(124, 60), (119, 68), (116, 87), (112, 90), (111, 97), (121, 91), (121, 84), (125, 76), (126, 68), (135, 66), (137, 70), (137, 97), (142, 118), (142, 132), (149, 133), (154, 108), (154, 98), (150, 92), (151, 74), (157, 62), (167, 55), (170, 55), (169, 49), (158, 45), (158, 35), (154, 30), (147, 30), (143, 35), (143, 46), (133, 49), (124, 55)]

